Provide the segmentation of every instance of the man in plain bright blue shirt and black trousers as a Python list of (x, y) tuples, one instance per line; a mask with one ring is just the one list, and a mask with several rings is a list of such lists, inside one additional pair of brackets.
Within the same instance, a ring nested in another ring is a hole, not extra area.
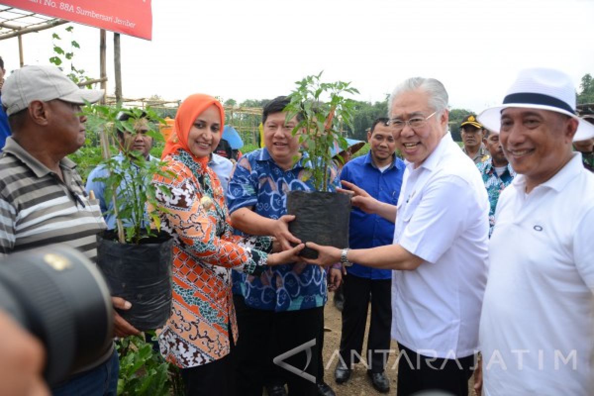
[[(396, 157), (396, 140), (387, 122), (387, 118), (374, 121), (367, 132), (369, 153), (345, 164), (340, 179), (354, 183), (382, 202), (396, 205), (405, 164)], [(390, 245), (393, 237), (394, 223), (377, 214), (353, 208), (349, 224), (350, 248)], [(343, 283), (345, 306), (342, 311), (341, 360), (334, 372), (338, 384), (348, 381), (351, 365), (358, 363), (358, 357), (362, 356), (368, 364), (368, 375), (374, 388), (380, 392), (390, 390), (390, 381), (384, 369), (386, 351), (390, 350), (391, 277), (391, 270), (377, 270), (359, 264), (347, 267)], [(371, 324), (367, 350), (361, 355), (370, 299)]]

